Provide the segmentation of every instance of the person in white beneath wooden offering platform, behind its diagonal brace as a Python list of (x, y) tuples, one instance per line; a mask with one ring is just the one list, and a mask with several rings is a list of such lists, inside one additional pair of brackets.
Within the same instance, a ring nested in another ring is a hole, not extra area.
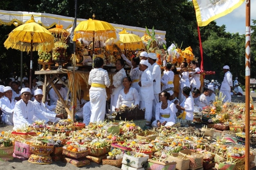
[[(62, 98), (64, 100), (66, 100), (67, 99), (67, 91), (62, 87), (62, 82), (58, 81), (55, 84), (55, 87), (58, 89), (58, 91), (61, 94)], [(56, 92), (54, 91), (53, 88), (49, 91), (49, 95), (50, 95), (50, 105), (56, 105), (59, 97), (58, 97), (58, 95), (56, 94)]]

